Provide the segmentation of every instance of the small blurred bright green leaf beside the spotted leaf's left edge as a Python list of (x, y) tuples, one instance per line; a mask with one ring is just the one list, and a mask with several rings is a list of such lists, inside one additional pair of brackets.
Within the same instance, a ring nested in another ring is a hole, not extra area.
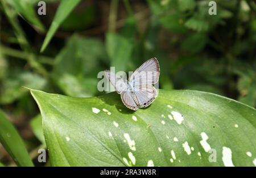
[(44, 140), (41, 115), (37, 115), (31, 119), (30, 127), (32, 129), (32, 132), (35, 134), (36, 138), (38, 138), (41, 143), (46, 145), (46, 142)]

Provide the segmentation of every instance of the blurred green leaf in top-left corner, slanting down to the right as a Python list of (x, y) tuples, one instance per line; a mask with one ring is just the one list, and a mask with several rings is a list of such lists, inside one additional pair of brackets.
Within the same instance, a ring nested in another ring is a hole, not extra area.
[(40, 31), (45, 31), (43, 24), (38, 19), (38, 16), (34, 10), (34, 2), (32, 1), (20, 1), (20, 0), (10, 0), (8, 1), (14, 9), (24, 16), (32, 25), (40, 29)]

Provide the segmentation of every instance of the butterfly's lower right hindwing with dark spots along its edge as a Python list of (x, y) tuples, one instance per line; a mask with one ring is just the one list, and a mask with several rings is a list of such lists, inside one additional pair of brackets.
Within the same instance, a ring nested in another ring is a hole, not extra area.
[(158, 96), (158, 92), (151, 84), (135, 87), (133, 94), (135, 95), (135, 103), (139, 108), (146, 108)]

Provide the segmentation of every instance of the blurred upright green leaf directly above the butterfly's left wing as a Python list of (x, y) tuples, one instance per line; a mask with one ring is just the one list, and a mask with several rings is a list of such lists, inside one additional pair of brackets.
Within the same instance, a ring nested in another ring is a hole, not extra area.
[(106, 51), (109, 55), (111, 66), (115, 66), (115, 72), (125, 71), (127, 62), (131, 58), (133, 44), (126, 37), (116, 33), (107, 33)]

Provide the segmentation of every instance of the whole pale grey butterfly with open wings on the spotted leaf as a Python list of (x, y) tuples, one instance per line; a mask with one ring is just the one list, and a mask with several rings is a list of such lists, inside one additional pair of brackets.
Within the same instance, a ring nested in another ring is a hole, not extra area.
[(158, 96), (158, 91), (152, 84), (159, 80), (160, 68), (156, 58), (144, 62), (128, 80), (119, 78), (109, 70), (105, 75), (114, 86), (115, 91), (121, 95), (123, 104), (136, 111), (138, 108), (146, 108)]

